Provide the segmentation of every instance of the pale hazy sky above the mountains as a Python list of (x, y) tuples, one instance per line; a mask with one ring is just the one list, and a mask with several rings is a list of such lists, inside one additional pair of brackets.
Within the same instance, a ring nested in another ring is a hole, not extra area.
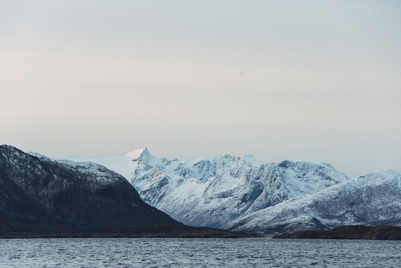
[(401, 169), (401, 1), (0, 4), (0, 144)]

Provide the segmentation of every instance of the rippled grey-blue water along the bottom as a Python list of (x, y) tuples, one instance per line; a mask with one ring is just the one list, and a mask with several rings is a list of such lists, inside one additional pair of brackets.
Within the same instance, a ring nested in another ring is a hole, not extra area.
[(401, 267), (401, 241), (291, 239), (0, 240), (0, 267)]

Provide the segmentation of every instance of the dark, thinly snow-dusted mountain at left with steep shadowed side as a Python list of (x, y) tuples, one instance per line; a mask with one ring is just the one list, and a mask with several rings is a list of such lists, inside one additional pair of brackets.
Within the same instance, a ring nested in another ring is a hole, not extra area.
[(99, 232), (156, 223), (180, 224), (104, 166), (0, 146), (0, 232)]

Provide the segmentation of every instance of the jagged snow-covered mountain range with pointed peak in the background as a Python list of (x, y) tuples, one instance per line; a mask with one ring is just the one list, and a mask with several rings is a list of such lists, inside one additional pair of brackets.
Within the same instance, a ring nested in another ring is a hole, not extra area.
[(192, 226), (220, 227), (349, 179), (325, 162), (262, 164), (251, 154), (169, 160), (144, 148), (125, 156), (68, 159), (96, 162), (124, 175), (145, 202)]

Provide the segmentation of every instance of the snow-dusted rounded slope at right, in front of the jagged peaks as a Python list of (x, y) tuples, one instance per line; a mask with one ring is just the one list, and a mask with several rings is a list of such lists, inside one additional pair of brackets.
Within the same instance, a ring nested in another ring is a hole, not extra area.
[(222, 228), (289, 233), (341, 225), (401, 226), (401, 171), (368, 173), (261, 209)]

